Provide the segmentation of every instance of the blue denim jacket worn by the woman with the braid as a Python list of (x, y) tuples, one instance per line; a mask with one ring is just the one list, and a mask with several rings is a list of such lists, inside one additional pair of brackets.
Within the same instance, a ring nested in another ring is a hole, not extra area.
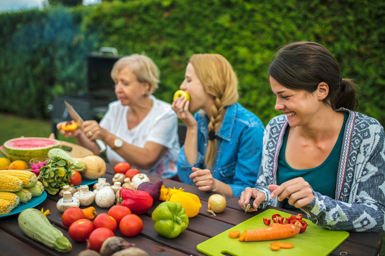
[[(207, 115), (194, 115), (198, 122), (198, 159), (194, 165), (187, 162), (184, 146), (179, 152), (177, 167), (182, 182), (192, 184), (189, 175), (192, 167), (205, 169), (204, 154), (207, 148)], [(213, 178), (230, 185), (233, 196), (239, 197), (246, 187), (253, 187), (261, 164), (264, 127), (259, 118), (235, 103), (227, 107), (221, 129), (217, 134), (217, 153), (211, 174)]]

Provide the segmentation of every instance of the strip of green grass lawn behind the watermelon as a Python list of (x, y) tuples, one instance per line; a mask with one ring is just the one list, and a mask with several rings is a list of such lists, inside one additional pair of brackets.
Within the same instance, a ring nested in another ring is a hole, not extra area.
[[(9, 139), (24, 137), (48, 137), (51, 133), (51, 121), (17, 117), (8, 113), (0, 113), (0, 145)], [(59, 140), (75, 143), (73, 138), (65, 138), (59, 132)]]

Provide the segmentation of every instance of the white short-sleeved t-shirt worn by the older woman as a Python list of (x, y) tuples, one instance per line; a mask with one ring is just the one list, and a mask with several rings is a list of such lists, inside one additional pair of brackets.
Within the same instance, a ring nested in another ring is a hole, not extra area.
[[(151, 175), (171, 178), (177, 174), (176, 161), (179, 154), (178, 118), (171, 105), (154, 96), (152, 108), (146, 117), (134, 128), (128, 129), (127, 111), (129, 106), (123, 106), (120, 101), (111, 102), (108, 111), (100, 121), (100, 126), (123, 141), (144, 147), (147, 141), (152, 141), (166, 147), (166, 154), (150, 170), (140, 170)], [(126, 162), (107, 145), (107, 159), (111, 164)]]

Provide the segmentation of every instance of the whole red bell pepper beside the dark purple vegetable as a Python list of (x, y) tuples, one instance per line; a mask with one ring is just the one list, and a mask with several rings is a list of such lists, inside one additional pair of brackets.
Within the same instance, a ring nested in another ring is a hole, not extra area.
[(152, 206), (152, 197), (150, 193), (142, 190), (132, 190), (121, 188), (116, 205), (127, 206), (133, 214), (143, 214)]

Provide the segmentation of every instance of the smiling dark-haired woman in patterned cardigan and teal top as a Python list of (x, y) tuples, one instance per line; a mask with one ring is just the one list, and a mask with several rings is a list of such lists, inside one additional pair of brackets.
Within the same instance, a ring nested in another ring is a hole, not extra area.
[(356, 85), (342, 79), (336, 59), (313, 42), (284, 46), (269, 68), (275, 109), (263, 138), (260, 175), (246, 188), (253, 208), (304, 212), (331, 230), (383, 233), (385, 134), (354, 112)]

